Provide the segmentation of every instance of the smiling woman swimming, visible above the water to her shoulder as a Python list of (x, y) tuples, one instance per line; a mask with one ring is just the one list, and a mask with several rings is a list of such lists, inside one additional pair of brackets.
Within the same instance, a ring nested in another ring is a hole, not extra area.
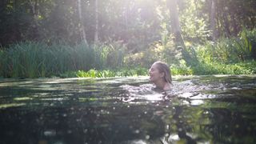
[(154, 62), (149, 70), (150, 82), (160, 90), (171, 90), (170, 68), (165, 62)]

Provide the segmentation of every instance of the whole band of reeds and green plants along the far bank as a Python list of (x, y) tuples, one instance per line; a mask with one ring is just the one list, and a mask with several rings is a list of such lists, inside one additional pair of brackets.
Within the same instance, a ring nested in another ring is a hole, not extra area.
[(138, 76), (146, 75), (157, 60), (167, 62), (173, 75), (256, 74), (256, 30), (244, 30), (238, 37), (217, 42), (189, 44), (189, 58), (177, 56), (174, 51), (173, 44), (159, 43), (132, 54), (120, 42), (90, 46), (20, 42), (0, 49), (0, 77)]

